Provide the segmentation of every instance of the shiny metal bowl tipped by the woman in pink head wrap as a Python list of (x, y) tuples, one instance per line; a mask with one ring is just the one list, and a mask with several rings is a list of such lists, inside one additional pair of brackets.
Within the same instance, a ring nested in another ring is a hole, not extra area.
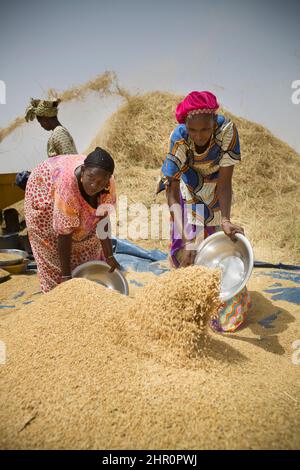
[(224, 232), (214, 233), (200, 244), (195, 258), (195, 264), (221, 269), (221, 300), (224, 302), (245, 287), (254, 265), (249, 240), (239, 233), (236, 238), (233, 242)]

